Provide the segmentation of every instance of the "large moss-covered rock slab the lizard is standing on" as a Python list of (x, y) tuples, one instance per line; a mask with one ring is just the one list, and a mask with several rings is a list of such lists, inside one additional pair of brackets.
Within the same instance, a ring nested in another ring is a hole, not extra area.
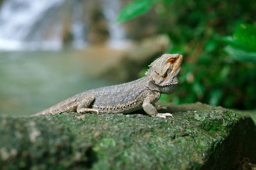
[(256, 162), (252, 119), (200, 103), (132, 114), (1, 116), (2, 169), (239, 169)]

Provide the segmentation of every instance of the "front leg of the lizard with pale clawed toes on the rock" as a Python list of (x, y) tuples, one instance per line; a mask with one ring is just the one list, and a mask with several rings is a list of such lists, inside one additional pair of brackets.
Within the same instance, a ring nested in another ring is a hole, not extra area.
[(172, 116), (172, 114), (168, 112), (166, 113), (157, 112), (156, 107), (154, 107), (154, 105), (151, 104), (152, 102), (154, 102), (154, 100), (156, 100), (156, 95), (150, 94), (150, 95), (147, 95), (147, 97), (143, 101), (142, 107), (143, 107), (143, 110), (147, 112), (147, 114), (149, 114), (152, 117), (159, 117), (159, 118), (166, 118), (166, 116)]

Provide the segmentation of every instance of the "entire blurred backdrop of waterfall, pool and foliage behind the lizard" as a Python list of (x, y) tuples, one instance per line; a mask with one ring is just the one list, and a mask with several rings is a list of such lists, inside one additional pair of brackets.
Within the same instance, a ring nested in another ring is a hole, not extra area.
[(0, 0), (0, 114), (29, 115), (184, 56), (161, 100), (256, 108), (255, 1)]

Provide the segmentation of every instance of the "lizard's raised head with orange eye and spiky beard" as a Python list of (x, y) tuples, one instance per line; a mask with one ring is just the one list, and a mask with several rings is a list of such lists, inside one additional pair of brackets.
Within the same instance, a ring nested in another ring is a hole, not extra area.
[[(179, 80), (180, 65), (182, 63), (180, 54), (163, 54), (149, 65), (148, 73), (158, 88), (166, 94), (173, 92)], [(172, 87), (172, 88), (170, 88)]]

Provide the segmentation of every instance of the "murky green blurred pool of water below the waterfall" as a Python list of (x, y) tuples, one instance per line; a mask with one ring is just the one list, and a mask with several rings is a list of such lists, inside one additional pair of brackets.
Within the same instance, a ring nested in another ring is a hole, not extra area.
[(33, 114), (86, 89), (111, 84), (90, 76), (95, 70), (90, 58), (95, 57), (84, 53), (0, 52), (0, 114)]

